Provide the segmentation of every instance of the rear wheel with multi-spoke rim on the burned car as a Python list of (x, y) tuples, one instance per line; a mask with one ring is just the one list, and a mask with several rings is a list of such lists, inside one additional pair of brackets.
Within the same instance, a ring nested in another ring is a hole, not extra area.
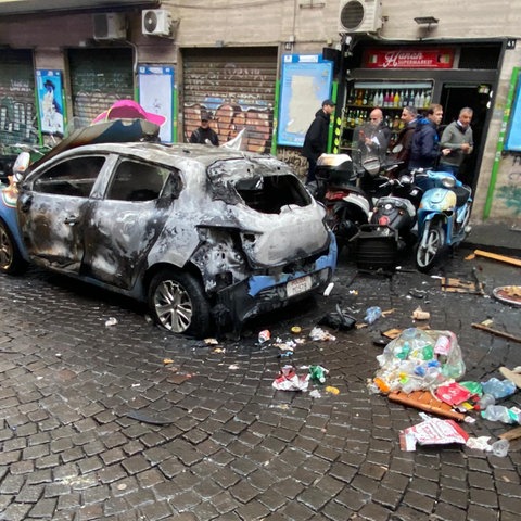
[(202, 284), (190, 274), (165, 269), (149, 285), (149, 308), (154, 321), (171, 333), (205, 338), (212, 314)]

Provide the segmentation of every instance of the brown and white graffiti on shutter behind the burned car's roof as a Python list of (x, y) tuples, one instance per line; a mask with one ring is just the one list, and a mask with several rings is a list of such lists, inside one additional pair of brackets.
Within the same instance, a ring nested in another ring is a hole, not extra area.
[[(213, 107), (215, 107), (213, 110)], [(244, 130), (242, 150), (257, 153), (269, 152), (271, 147), (271, 109), (259, 109), (215, 98), (209, 102), (185, 105), (185, 141), (201, 123), (201, 113), (209, 114), (209, 126), (219, 137), (219, 143), (233, 139)]]

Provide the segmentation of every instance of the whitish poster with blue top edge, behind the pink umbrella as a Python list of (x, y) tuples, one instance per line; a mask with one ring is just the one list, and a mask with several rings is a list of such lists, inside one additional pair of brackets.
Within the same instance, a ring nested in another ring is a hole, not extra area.
[(138, 67), (139, 104), (153, 114), (166, 117), (161, 126), (160, 139), (174, 141), (174, 67), (140, 65)]

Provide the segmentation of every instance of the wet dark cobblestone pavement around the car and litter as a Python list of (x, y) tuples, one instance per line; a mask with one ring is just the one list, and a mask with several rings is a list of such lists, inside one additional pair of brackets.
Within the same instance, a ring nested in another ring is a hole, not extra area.
[[(487, 294), (519, 283), (519, 268), (467, 253), (445, 274), (471, 280), (475, 267)], [(493, 318), (520, 336), (519, 308), (442, 292), (414, 269), (357, 274), (347, 258), (335, 282), (329, 297), (263, 317), (216, 348), (165, 334), (134, 303), (68, 279), (0, 276), (0, 519), (519, 519), (517, 442), (505, 458), (460, 445), (402, 452), (398, 431), (420, 422), (418, 411), (366, 387), (382, 351), (372, 341), (412, 326), (418, 305), (433, 329), (457, 334), (466, 380), (521, 365), (519, 343), (471, 327)], [(296, 347), (295, 364), (323, 365), (340, 394), (274, 390), (279, 350), (256, 343), (258, 331), (288, 340), (298, 325), (305, 335), (338, 303), (360, 321), (369, 306), (395, 310)], [(106, 327), (111, 317), (117, 325)], [(495, 440), (508, 425), (463, 428)]]

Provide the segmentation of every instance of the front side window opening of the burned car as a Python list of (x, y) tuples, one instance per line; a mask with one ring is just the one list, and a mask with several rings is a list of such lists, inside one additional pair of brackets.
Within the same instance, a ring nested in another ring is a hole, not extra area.
[(33, 190), (74, 198), (88, 198), (105, 163), (103, 156), (84, 156), (54, 165), (39, 176)]

